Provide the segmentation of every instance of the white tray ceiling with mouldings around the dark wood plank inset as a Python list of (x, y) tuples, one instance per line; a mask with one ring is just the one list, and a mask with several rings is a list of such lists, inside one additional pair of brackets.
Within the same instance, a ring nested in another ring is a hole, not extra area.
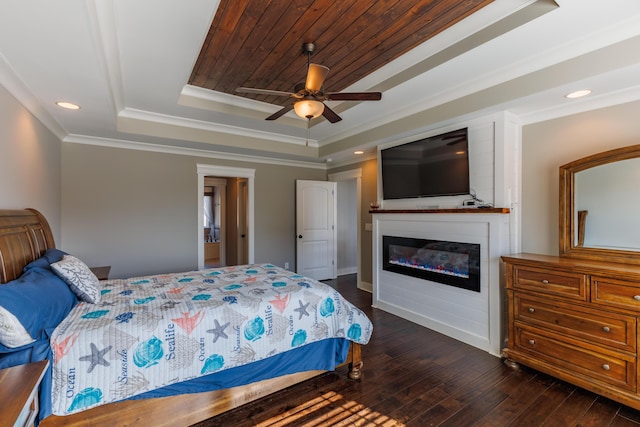
[[(215, 0), (22, 0), (0, 6), (0, 82), (62, 141), (304, 164), (496, 111), (532, 123), (640, 99), (640, 1), (496, 0), (331, 103), (343, 120), (186, 84)], [(575, 89), (592, 95), (568, 100)], [(65, 100), (79, 111), (55, 105)]]

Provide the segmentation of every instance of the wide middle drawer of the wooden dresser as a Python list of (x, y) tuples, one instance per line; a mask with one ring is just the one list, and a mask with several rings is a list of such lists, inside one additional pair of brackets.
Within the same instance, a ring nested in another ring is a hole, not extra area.
[(569, 336), (625, 351), (636, 351), (636, 318), (549, 301), (518, 292), (514, 295), (514, 318)]

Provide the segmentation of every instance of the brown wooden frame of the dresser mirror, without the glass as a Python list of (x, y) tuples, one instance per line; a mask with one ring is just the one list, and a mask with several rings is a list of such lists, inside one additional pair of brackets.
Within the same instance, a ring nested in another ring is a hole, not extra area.
[(640, 157), (640, 145), (617, 148), (591, 156), (583, 157), (560, 166), (560, 256), (589, 259), (594, 261), (640, 264), (640, 251), (600, 249), (577, 246), (575, 236), (577, 225), (574, 215), (575, 174), (595, 166)]

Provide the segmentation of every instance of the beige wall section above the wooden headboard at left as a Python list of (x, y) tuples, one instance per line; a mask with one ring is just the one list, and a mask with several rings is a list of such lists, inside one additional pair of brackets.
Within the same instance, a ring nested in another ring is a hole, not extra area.
[(0, 85), (0, 209), (35, 208), (60, 241), (60, 140)]

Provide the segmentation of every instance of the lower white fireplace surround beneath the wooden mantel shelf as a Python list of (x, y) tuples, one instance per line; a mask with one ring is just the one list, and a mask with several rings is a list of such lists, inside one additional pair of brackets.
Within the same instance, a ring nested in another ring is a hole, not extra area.
[[(381, 213), (374, 215), (373, 234), (374, 307), (500, 356), (508, 214)], [(383, 270), (382, 236), (480, 244), (480, 292)]]

